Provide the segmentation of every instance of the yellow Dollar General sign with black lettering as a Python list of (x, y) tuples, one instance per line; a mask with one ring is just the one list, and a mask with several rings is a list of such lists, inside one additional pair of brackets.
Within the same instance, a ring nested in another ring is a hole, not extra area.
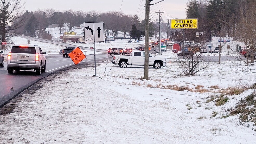
[(197, 29), (197, 18), (171, 19), (170, 29)]

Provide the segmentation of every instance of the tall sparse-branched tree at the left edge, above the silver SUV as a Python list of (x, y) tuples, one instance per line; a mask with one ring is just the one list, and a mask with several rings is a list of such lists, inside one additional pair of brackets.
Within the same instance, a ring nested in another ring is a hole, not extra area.
[[(19, 17), (22, 15), (24, 4), (20, 0), (0, 0), (0, 38), (1, 41), (8, 41), (10, 37), (14, 36), (8, 33), (21, 27), (23, 19)], [(19, 21), (18, 23), (13, 23)], [(4, 49), (4, 47), (3, 47)]]

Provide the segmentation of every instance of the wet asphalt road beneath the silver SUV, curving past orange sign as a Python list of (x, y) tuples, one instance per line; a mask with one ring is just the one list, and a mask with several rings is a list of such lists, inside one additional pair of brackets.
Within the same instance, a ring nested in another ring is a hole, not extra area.
[[(103, 61), (107, 57), (107, 54), (97, 54), (96, 61)], [(86, 55), (86, 59), (79, 64), (87, 62), (94, 63), (94, 55)], [(77, 66), (79, 66), (79, 64)], [(7, 72), (7, 62), (5, 62), (5, 66), (0, 68), (0, 107), (42, 78), (47, 77), (57, 70), (70, 66), (74, 66), (74, 63), (69, 57), (63, 58), (60, 54), (46, 55), (46, 73), (36, 75), (33, 70), (20, 70), (19, 72), (14, 71), (14, 73), (10, 75)], [(10, 90), (12, 87), (13, 90)]]

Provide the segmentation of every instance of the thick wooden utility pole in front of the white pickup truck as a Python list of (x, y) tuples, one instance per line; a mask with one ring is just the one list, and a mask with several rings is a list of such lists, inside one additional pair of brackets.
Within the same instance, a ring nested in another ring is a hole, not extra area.
[[(144, 61), (144, 79), (149, 80), (149, 13), (150, 13), (150, 2), (153, 0), (146, 0), (146, 12), (145, 12), (145, 61)], [(162, 0), (164, 1), (164, 0)], [(159, 1), (159, 2), (162, 2)], [(159, 3), (157, 2), (157, 3)], [(154, 4), (157, 4), (154, 3)]]

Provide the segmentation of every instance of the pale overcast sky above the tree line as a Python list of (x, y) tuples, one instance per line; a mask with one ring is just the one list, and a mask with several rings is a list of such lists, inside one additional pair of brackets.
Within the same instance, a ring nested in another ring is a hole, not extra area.
[[(122, 3), (123, 1), (123, 3)], [(151, 4), (160, 0), (154, 0)], [(25, 10), (35, 11), (37, 9), (52, 8), (59, 11), (65, 11), (72, 9), (74, 11), (82, 10), (88, 11), (121, 11), (127, 15), (137, 14), (141, 20), (145, 18), (145, 0), (21, 0), (21, 3), (25, 3)], [(165, 0), (156, 5), (152, 5), (150, 8), (150, 19), (159, 17), (156, 12), (162, 13), (162, 18), (167, 21), (166, 16), (172, 16), (172, 18), (186, 18), (186, 2), (188, 0)]]

